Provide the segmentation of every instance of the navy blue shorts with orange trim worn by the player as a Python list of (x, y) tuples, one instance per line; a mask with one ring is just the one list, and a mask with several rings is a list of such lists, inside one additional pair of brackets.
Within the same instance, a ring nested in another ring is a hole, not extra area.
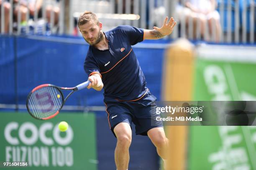
[[(163, 127), (161, 121), (156, 117), (156, 97), (148, 91), (141, 99), (136, 101), (118, 101), (115, 99), (104, 99), (108, 113), (110, 129), (114, 133), (114, 128), (120, 122), (127, 122), (130, 126), (135, 125), (136, 135), (147, 136), (148, 130), (156, 127)], [(116, 137), (116, 136), (115, 136)]]

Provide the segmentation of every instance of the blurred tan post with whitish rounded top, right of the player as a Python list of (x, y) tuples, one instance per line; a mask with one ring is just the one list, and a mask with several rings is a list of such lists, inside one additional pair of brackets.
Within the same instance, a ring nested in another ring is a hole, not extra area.
[[(174, 42), (165, 54), (162, 82), (163, 101), (192, 100), (194, 54), (192, 44), (186, 39)], [(187, 160), (188, 126), (165, 127), (169, 148), (167, 170), (185, 170)]]

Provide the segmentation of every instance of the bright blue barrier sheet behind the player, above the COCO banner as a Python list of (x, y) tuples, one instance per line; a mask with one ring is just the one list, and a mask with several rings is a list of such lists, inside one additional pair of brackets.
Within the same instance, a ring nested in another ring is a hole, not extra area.
[[(0, 42), (0, 103), (25, 105), (28, 93), (40, 84), (74, 87), (87, 80), (83, 64), (89, 45), (82, 38), (0, 36)], [(148, 41), (133, 48), (148, 88), (159, 98), (164, 45), (168, 41), (155, 42), (161, 44), (152, 48), (152, 41)], [(81, 90), (66, 105), (104, 106), (102, 93)]]

